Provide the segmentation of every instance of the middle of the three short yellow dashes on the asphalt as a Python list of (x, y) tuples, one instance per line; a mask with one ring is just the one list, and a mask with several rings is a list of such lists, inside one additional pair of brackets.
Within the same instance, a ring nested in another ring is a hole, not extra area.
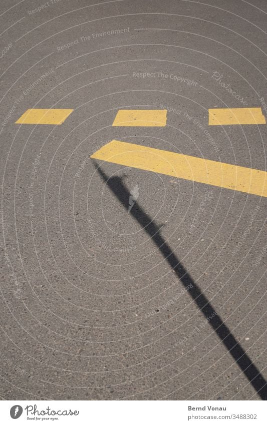
[(120, 109), (113, 122), (114, 127), (165, 127), (166, 109)]

